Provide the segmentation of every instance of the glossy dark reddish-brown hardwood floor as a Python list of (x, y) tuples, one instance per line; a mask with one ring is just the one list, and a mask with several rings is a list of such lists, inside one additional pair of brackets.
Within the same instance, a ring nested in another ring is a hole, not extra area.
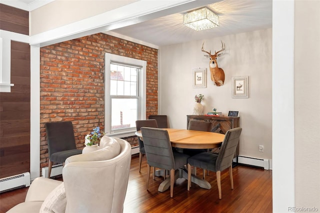
[[(138, 172), (138, 156), (131, 160), (129, 183), (124, 201), (124, 212), (272, 212), (272, 171), (245, 165), (233, 168), (234, 189), (230, 189), (227, 169), (221, 172), (222, 199), (218, 198), (215, 173), (209, 172), (206, 180), (212, 188), (207, 190), (192, 183), (187, 191), (187, 181), (180, 178), (170, 191), (158, 192), (162, 177), (150, 178), (146, 187), (146, 163), (143, 158)], [(202, 176), (201, 169), (197, 175)], [(0, 213), (6, 212), (25, 198), (27, 188), (0, 194)]]

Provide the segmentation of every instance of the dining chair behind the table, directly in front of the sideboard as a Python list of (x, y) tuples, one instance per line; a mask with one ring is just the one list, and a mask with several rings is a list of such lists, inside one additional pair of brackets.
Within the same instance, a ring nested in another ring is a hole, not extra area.
[[(211, 131), (212, 123), (211, 122), (203, 122), (199, 120), (189, 120), (188, 125), (189, 130), (197, 130), (197, 131)], [(193, 156), (195, 154), (208, 151), (207, 149), (195, 149), (195, 148), (184, 148), (183, 153)]]

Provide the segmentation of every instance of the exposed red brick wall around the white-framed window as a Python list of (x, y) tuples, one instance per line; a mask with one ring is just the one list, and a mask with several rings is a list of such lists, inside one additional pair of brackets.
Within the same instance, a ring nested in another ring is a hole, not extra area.
[(41, 47), (40, 168), (48, 165), (46, 122), (72, 121), (77, 148), (95, 126), (103, 130), (105, 52), (147, 61), (146, 117), (157, 114), (157, 49), (103, 33)]

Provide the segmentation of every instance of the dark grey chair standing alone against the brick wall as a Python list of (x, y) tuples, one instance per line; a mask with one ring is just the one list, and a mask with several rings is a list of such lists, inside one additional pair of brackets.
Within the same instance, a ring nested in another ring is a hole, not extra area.
[(77, 149), (75, 146), (71, 121), (48, 122), (44, 126), (48, 143), (48, 178), (50, 178), (54, 162), (64, 164), (66, 158), (75, 154), (81, 154), (82, 149)]

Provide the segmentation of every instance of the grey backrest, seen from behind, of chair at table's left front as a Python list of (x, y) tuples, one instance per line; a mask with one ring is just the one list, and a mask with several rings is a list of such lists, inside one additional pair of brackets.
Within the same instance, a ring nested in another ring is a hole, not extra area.
[(141, 127), (146, 161), (150, 166), (170, 170), (175, 168), (172, 147), (167, 130)]

